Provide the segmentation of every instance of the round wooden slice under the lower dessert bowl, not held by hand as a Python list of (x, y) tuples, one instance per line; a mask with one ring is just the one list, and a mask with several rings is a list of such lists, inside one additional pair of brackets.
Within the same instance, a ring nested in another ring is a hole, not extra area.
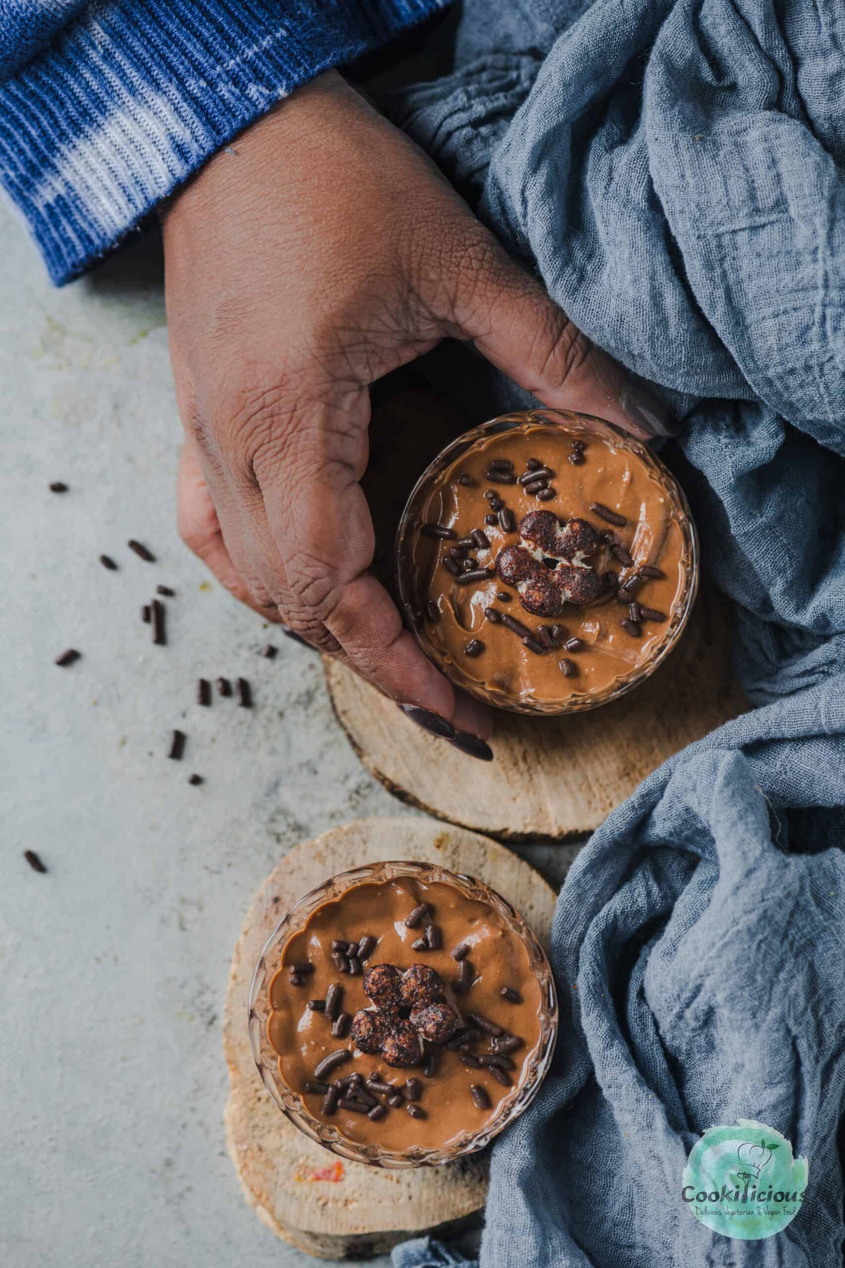
[(232, 957), (223, 1019), (229, 1066), (226, 1139), (248, 1203), (277, 1236), (326, 1259), (378, 1254), (423, 1230), (460, 1229), (484, 1205), (486, 1160), (380, 1170), (346, 1161), (302, 1135), (261, 1082), (247, 1032), (250, 983), (286, 909), (315, 885), (364, 862), (414, 858), (470, 872), (499, 890), (549, 947), (555, 893), (493, 841), (410, 817), (360, 819), (295, 846), (258, 890)]

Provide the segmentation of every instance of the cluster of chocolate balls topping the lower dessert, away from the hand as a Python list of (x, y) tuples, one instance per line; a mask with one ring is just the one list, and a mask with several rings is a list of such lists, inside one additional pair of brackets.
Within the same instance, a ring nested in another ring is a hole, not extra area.
[(390, 1066), (417, 1065), (423, 1040), (445, 1044), (457, 1030), (442, 978), (428, 965), (412, 964), (399, 973), (391, 964), (376, 964), (364, 975), (364, 993), (374, 1007), (356, 1012), (352, 1040), (361, 1052), (381, 1052)]

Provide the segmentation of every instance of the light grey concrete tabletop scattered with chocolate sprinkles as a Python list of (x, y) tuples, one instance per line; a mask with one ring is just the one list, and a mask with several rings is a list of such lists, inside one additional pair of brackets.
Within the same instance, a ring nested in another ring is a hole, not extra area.
[[(319, 1260), (258, 1224), (224, 1148), (229, 957), (291, 844), (402, 808), (337, 727), (317, 657), (179, 541), (155, 241), (57, 292), (4, 207), (0, 259), (0, 1263), (303, 1268)], [(160, 582), (166, 648), (139, 619)], [(82, 659), (54, 667), (67, 647)], [(248, 677), (255, 709), (196, 708), (200, 675)], [(552, 877), (570, 855), (519, 852)]]

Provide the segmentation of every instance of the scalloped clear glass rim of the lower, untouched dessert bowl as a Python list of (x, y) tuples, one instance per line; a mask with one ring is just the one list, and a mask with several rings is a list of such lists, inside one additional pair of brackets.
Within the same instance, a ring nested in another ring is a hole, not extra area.
[[(340, 898), (352, 885), (391, 880), (395, 876), (414, 876), (428, 883), (442, 881), (456, 885), (467, 898), (488, 903), (505, 921), (511, 931), (523, 942), (531, 969), (541, 985), (542, 1007), (540, 1013), (540, 1042), (531, 1063), (524, 1083), (512, 1097), (505, 1097), (495, 1116), (478, 1132), (462, 1132), (455, 1140), (440, 1149), (412, 1148), (402, 1153), (384, 1149), (378, 1144), (364, 1145), (342, 1136), (337, 1127), (315, 1118), (300, 1097), (284, 1082), (279, 1070), (279, 1059), (267, 1040), (267, 1017), (270, 1014), (267, 987), (272, 974), (281, 961), (281, 951), (294, 933), (298, 933), (315, 908)], [(365, 864), (350, 871), (338, 872), (323, 881), (283, 917), (265, 942), (264, 950), (252, 975), (250, 988), (250, 1046), (258, 1073), (267, 1092), (286, 1118), (315, 1144), (351, 1161), (367, 1163), (371, 1167), (408, 1168), (438, 1167), (466, 1154), (484, 1149), (494, 1136), (504, 1131), (519, 1115), (528, 1108), (537, 1096), (542, 1080), (551, 1066), (557, 1040), (557, 993), (555, 979), (546, 952), (540, 946), (531, 928), (519, 912), (494, 889), (475, 876), (448, 871), (437, 864), (419, 862), (380, 862)]]

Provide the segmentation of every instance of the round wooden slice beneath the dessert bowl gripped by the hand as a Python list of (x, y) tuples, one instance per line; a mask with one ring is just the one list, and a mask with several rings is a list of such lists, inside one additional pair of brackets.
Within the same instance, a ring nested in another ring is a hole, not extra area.
[(728, 612), (706, 590), (651, 678), (592, 713), (497, 713), (489, 763), (414, 727), (337, 662), (327, 657), (324, 666), (341, 725), (390, 792), (507, 841), (592, 832), (668, 757), (749, 708), (730, 672)]

